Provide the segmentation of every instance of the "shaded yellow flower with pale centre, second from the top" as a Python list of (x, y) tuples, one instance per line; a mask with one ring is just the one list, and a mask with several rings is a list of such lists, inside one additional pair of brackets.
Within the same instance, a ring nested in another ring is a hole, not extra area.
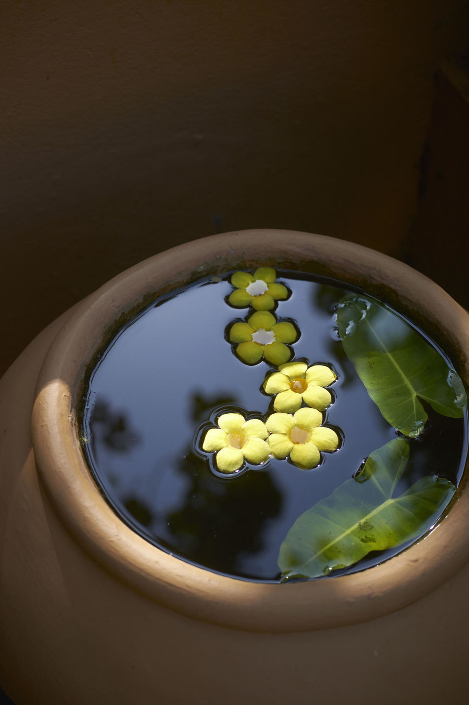
[(291, 353), (285, 343), (293, 343), (297, 333), (289, 321), (280, 321), (268, 311), (256, 311), (247, 323), (233, 324), (230, 343), (239, 343), (237, 355), (247, 364), (256, 364), (262, 357), (273, 364), (287, 362)]

